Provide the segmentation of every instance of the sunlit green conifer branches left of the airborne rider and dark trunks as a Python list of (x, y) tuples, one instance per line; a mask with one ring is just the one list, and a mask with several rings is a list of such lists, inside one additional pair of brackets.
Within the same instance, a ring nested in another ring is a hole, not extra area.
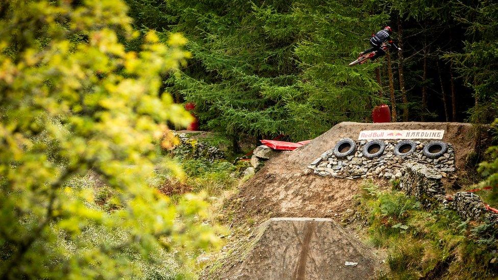
[[(303, 140), (364, 120), (380, 103), (375, 65), (347, 66), (385, 19), (368, 16), (361, 3), (128, 3), (137, 24), (189, 39), (192, 63), (166, 84), (196, 103), (205, 129)], [(161, 22), (141, 12), (150, 6)]]

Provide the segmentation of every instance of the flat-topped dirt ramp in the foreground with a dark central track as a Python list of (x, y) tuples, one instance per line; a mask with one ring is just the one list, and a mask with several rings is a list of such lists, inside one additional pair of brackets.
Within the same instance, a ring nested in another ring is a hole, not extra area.
[[(339, 224), (324, 218), (272, 218), (258, 228), (244, 249), (232, 254), (232, 266), (218, 279), (369, 279), (371, 250)], [(358, 263), (345, 266), (345, 262)]]

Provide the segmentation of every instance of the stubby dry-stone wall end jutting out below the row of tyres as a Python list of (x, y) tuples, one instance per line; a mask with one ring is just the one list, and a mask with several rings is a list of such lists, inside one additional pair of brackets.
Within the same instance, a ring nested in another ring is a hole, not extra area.
[(407, 163), (402, 173), (400, 188), (406, 194), (415, 196), (427, 206), (430, 206), (434, 199), (439, 202), (444, 201), (446, 192), (438, 170), (424, 164)]

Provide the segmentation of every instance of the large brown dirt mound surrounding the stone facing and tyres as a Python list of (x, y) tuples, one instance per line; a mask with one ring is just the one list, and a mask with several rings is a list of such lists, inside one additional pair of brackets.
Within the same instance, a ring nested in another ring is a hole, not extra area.
[[(341, 138), (358, 139), (362, 130), (444, 130), (445, 142), (455, 149), (457, 174), (464, 172), (467, 156), (474, 151), (472, 126), (455, 122), (341, 122), (331, 130), (293, 151), (270, 159), (241, 186), (237, 197), (239, 216), (332, 217), (354, 208), (353, 196), (361, 180), (306, 175), (304, 170)], [(387, 180), (377, 182), (387, 185)], [(451, 182), (446, 182), (451, 183)]]

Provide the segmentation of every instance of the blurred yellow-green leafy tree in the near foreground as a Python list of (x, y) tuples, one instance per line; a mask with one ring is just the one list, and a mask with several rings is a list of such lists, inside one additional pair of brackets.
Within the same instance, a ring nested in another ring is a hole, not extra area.
[[(0, 278), (145, 277), (137, 258), (158, 248), (217, 243), (200, 197), (173, 204), (152, 183), (175, 167), (158, 152), (167, 123), (191, 118), (161, 92), (185, 39), (148, 33), (127, 51), (120, 0), (3, 0), (0, 26)], [(112, 210), (79, 186), (88, 173)]]

